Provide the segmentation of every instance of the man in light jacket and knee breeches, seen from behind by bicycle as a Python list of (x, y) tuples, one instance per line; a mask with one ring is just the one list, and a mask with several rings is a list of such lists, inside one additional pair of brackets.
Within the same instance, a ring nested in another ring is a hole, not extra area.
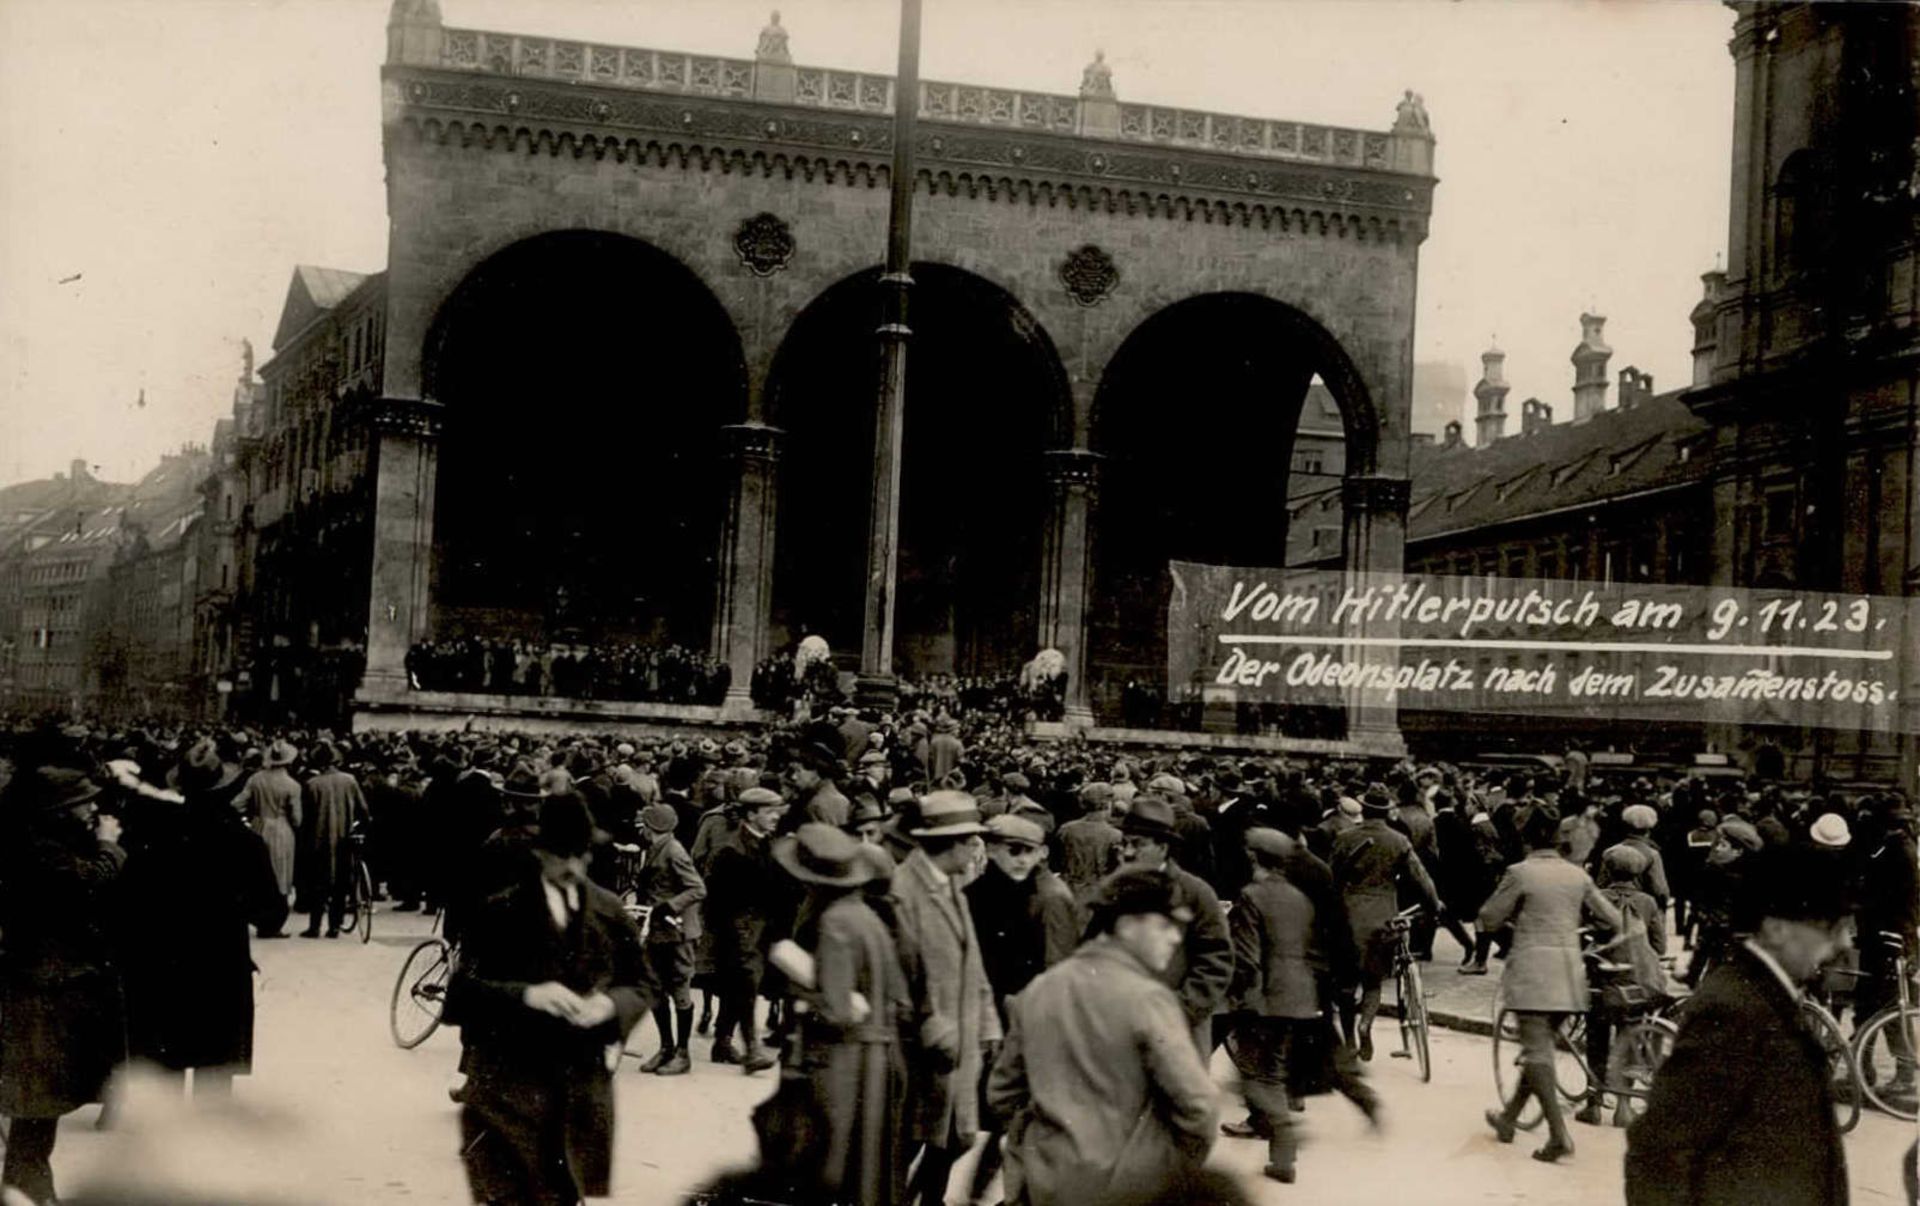
[(1559, 820), (1559, 812), (1546, 805), (1526, 814), (1521, 839), (1528, 855), (1507, 868), (1478, 918), (1480, 929), (1513, 926), (1513, 949), (1500, 989), (1521, 1033), (1521, 1085), (1501, 1110), (1486, 1112), (1486, 1122), (1501, 1143), (1513, 1143), (1526, 1098), (1538, 1097), (1549, 1139), (1534, 1160), (1546, 1164), (1572, 1154), (1553, 1079), (1553, 1027), (1561, 1014), (1584, 1014), (1590, 1006), (1580, 960), (1580, 914), (1592, 912), (1607, 929), (1620, 928), (1620, 912), (1599, 895), (1584, 870), (1561, 856)]

